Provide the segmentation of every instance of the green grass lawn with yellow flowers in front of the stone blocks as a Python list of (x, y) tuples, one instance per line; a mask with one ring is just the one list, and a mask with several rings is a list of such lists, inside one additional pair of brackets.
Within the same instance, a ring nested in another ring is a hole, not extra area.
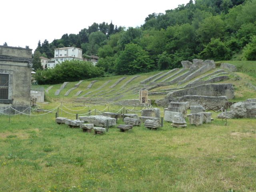
[(113, 127), (103, 135), (58, 125), (54, 113), (10, 123), (0, 116), (0, 191), (256, 191), (256, 119), (224, 126), (213, 116), (202, 126), (164, 122), (156, 131)]

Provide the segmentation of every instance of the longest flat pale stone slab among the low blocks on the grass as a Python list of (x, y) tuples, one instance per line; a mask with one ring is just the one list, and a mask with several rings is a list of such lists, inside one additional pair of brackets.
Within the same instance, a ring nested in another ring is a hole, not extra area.
[(84, 122), (89, 122), (94, 124), (94, 126), (100, 126), (100, 127), (106, 127), (107, 126), (107, 120), (108, 120), (108, 126), (114, 126), (116, 125), (116, 119), (111, 117), (105, 117), (101, 115), (95, 115), (95, 116), (80, 116), (80, 120), (83, 120)]

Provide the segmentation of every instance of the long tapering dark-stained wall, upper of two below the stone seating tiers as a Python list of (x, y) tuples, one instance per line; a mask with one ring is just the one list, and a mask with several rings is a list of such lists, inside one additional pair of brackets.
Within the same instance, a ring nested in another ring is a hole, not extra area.
[(186, 88), (168, 93), (165, 98), (182, 97), (184, 95), (201, 96), (227, 96), (228, 99), (234, 98), (233, 84), (205, 84), (196, 87)]

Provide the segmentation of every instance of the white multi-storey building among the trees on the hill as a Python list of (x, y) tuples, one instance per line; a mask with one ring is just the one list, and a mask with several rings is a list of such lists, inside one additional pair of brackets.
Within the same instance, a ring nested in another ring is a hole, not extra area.
[[(82, 49), (76, 47), (64, 47), (54, 50), (54, 64), (60, 64), (65, 60), (83, 60)], [(54, 66), (55, 66), (54, 65)], [(49, 67), (54, 67), (49, 66)]]

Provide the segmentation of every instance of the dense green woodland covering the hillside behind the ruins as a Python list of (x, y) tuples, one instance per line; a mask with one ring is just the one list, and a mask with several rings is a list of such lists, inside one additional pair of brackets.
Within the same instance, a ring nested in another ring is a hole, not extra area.
[(256, 0), (190, 0), (149, 14), (140, 27), (94, 23), (51, 43), (39, 41), (36, 51), (52, 58), (54, 48), (68, 46), (98, 55), (105, 75), (172, 69), (193, 58), (256, 60)]

